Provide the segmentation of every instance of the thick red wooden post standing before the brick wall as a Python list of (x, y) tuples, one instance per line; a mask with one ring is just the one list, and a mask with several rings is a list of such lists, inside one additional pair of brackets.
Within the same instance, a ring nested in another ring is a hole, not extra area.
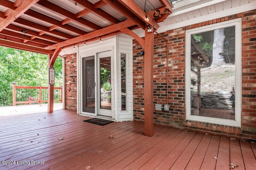
[(154, 135), (153, 119), (153, 68), (154, 68), (154, 32), (145, 29), (144, 56), (144, 131), (146, 136)]

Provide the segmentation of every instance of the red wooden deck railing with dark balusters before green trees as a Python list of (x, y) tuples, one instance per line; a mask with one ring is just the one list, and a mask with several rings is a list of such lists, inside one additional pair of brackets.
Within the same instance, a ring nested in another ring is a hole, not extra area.
[[(62, 94), (63, 88), (54, 87), (54, 102), (62, 103)], [(16, 86), (16, 83), (13, 83), (12, 86), (12, 105), (16, 104), (32, 104), (43, 102), (48, 102), (48, 87), (39, 87), (34, 86)]]

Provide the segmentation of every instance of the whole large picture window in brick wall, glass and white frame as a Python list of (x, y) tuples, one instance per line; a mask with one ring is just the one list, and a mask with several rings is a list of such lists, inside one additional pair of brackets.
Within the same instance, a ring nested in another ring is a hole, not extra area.
[(240, 20), (186, 31), (186, 119), (240, 127)]

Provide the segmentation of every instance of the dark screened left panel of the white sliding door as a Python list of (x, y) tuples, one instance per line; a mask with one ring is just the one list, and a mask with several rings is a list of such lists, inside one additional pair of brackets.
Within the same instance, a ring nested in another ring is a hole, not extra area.
[(94, 56), (82, 59), (83, 111), (95, 113)]

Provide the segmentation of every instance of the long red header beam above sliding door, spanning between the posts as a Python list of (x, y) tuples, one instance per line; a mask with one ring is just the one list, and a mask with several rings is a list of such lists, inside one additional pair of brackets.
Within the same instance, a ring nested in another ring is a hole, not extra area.
[(85, 35), (80, 35), (80, 36), (75, 37), (73, 39), (69, 39), (69, 40), (63, 41), (61, 43), (51, 45), (49, 47), (46, 47), (45, 49), (53, 50), (53, 49), (56, 49), (56, 48), (65, 47), (67, 45), (75, 44), (75, 43), (85, 41), (85, 40), (88, 40), (88, 39), (92, 39), (92, 38), (95, 38), (95, 37), (100, 37), (100, 36), (108, 34), (108, 33), (119, 31), (121, 29), (131, 27), (132, 25), (134, 25), (133, 21), (126, 20), (126, 21), (123, 21), (123, 22), (120, 22), (120, 23), (116, 23), (114, 25), (110, 25), (108, 27), (104, 27), (100, 30), (96, 30), (96, 31), (87, 33)]

